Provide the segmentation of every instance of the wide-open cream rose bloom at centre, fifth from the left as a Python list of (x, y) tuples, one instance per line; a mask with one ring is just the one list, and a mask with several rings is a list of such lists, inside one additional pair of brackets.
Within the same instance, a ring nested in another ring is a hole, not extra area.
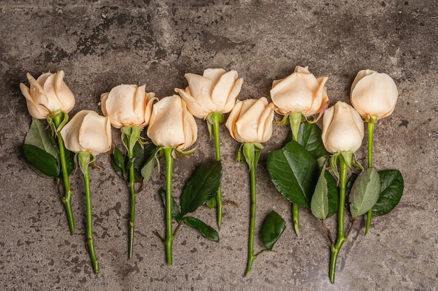
[(206, 69), (202, 76), (192, 73), (184, 76), (189, 86), (175, 91), (185, 100), (190, 112), (203, 119), (211, 113), (230, 112), (243, 84), (242, 78), (237, 79), (235, 70), (225, 73), (222, 68)]

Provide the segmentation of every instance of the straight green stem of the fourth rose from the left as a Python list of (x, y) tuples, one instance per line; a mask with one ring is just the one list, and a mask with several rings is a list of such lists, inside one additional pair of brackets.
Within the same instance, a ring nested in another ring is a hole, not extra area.
[(166, 158), (166, 246), (167, 264), (172, 264), (172, 244), (174, 242), (174, 234), (172, 231), (172, 170), (174, 168), (174, 158), (172, 151), (174, 149), (164, 148), (164, 156)]

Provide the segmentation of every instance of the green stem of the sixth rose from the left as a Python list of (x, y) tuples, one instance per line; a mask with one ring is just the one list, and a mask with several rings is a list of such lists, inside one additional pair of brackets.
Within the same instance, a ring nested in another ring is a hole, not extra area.
[[(244, 144), (244, 147), (247, 144)], [(253, 262), (256, 255), (254, 255), (254, 232), (255, 232), (255, 207), (256, 207), (256, 175), (255, 170), (257, 167), (258, 159), (260, 157), (260, 149), (257, 149), (253, 146), (253, 158), (246, 158), (246, 161), (252, 161), (252, 163), (248, 163), (250, 168), (250, 185), (251, 185), (251, 207), (250, 207), (250, 227), (249, 227), (249, 237), (248, 237), (248, 262), (246, 264), (245, 276), (248, 275), (251, 268), (253, 267)]]

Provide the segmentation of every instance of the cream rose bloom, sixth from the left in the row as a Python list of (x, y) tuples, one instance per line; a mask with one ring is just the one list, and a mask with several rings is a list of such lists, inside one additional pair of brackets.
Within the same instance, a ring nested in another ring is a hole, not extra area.
[(267, 142), (272, 135), (274, 108), (264, 97), (237, 100), (225, 126), (238, 142)]

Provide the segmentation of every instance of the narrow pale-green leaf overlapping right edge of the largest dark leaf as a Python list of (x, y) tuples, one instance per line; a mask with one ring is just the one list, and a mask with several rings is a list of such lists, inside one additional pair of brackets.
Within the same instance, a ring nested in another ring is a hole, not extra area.
[(310, 209), (313, 216), (325, 220), (329, 213), (328, 205), (328, 186), (325, 179), (325, 166), (321, 170), (318, 182), (316, 183), (315, 192), (313, 193)]

